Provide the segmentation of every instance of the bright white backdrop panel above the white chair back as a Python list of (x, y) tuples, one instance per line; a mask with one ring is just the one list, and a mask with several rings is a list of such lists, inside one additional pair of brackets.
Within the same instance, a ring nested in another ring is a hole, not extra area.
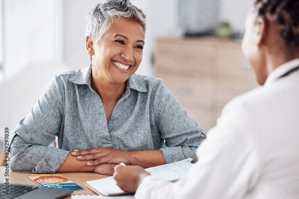
[(52, 61), (62, 49), (63, 1), (3, 1), (5, 78), (33, 62)]

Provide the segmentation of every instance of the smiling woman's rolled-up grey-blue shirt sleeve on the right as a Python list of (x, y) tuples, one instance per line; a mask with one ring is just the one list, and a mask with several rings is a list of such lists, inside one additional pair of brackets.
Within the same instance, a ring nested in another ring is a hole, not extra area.
[(196, 149), (206, 138), (206, 133), (191, 118), (173, 94), (158, 79), (155, 87), (153, 109), (155, 123), (168, 148), (161, 148), (166, 163), (196, 157)]

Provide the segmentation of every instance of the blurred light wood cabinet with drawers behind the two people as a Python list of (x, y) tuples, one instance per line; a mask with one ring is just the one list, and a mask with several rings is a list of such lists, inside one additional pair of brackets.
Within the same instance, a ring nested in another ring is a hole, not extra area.
[(219, 38), (161, 38), (153, 64), (156, 76), (208, 131), (223, 106), (258, 86), (241, 44)]

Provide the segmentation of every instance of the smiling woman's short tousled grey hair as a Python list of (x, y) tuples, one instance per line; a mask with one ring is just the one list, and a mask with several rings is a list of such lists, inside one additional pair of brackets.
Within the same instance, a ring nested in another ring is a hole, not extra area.
[(145, 32), (146, 15), (141, 9), (133, 6), (129, 0), (105, 0), (97, 4), (87, 15), (85, 36), (94, 43), (100, 41), (116, 18), (135, 20), (141, 24)]

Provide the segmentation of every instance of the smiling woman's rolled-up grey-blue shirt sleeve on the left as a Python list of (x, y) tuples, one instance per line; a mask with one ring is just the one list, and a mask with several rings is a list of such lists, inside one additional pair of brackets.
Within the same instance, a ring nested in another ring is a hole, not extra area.
[(55, 76), (13, 131), (10, 141), (13, 171), (55, 173), (65, 161), (69, 152), (50, 146), (62, 130), (63, 98), (63, 85)]

